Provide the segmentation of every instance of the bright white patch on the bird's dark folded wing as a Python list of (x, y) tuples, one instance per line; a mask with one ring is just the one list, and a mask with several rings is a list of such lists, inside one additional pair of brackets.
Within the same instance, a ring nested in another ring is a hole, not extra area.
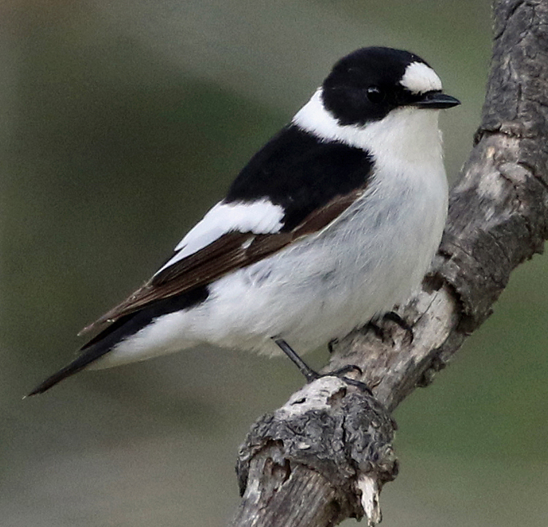
[(227, 232), (253, 232), (253, 234), (274, 234), (282, 228), (284, 208), (271, 203), (268, 199), (259, 199), (251, 203), (220, 201), (199, 221), (175, 247), (175, 254), (163, 267), (156, 271), (158, 275), (175, 262), (194, 254), (206, 245), (214, 242)]

